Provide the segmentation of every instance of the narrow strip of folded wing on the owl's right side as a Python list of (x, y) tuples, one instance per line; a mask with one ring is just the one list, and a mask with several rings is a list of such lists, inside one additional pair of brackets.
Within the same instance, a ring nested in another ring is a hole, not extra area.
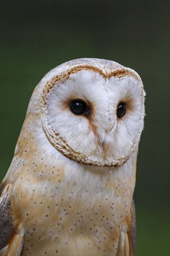
[(131, 213), (127, 219), (127, 226), (122, 229), (118, 242), (118, 256), (134, 256), (136, 246), (136, 214), (132, 200)]

